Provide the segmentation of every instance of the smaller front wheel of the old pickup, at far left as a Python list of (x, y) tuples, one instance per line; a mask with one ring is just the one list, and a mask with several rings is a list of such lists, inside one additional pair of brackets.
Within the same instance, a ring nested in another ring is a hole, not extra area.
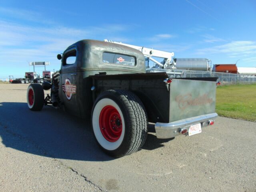
[(28, 108), (40, 111), (44, 106), (44, 90), (40, 84), (30, 84), (27, 91)]

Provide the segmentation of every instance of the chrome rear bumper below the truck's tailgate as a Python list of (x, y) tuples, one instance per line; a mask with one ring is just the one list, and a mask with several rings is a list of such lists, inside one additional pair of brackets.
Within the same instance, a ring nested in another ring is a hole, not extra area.
[(180, 135), (180, 130), (182, 128), (187, 128), (191, 125), (201, 123), (201, 127), (206, 127), (209, 125), (210, 121), (218, 116), (217, 113), (211, 113), (206, 115), (200, 115), (192, 118), (187, 118), (183, 120), (174, 121), (171, 123), (159, 123), (155, 124), (156, 137), (159, 139), (172, 138)]

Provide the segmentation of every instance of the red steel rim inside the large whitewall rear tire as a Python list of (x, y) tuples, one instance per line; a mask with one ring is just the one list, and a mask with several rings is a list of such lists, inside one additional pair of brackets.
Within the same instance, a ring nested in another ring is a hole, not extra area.
[(122, 118), (111, 105), (105, 106), (100, 112), (100, 131), (109, 142), (116, 142), (122, 134)]

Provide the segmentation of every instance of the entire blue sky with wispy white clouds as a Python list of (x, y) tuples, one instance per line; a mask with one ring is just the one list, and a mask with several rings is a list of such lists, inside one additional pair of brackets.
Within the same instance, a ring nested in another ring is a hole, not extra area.
[[(110, 39), (256, 67), (255, 0), (0, 0), (0, 78), (24, 76), (81, 39)], [(37, 68), (42, 73), (43, 68)]]

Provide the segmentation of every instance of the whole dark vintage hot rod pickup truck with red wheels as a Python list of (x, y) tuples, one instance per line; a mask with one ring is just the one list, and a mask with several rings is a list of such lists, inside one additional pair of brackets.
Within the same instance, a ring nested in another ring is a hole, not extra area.
[[(30, 84), (30, 110), (44, 105), (90, 119), (100, 148), (121, 157), (140, 150), (148, 122), (156, 137), (194, 135), (214, 124), (217, 78), (170, 78), (146, 73), (142, 52), (97, 40), (80, 40), (63, 54), (52, 82)], [(50, 94), (44, 98), (44, 90)]]

